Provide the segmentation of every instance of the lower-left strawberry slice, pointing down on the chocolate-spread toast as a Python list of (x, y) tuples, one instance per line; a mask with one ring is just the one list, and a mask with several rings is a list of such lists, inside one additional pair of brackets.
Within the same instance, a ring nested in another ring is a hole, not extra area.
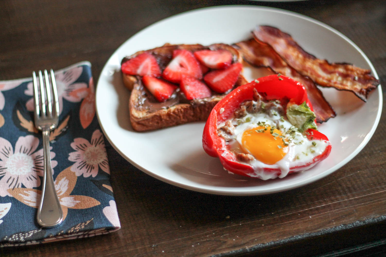
[(178, 88), (176, 85), (150, 76), (143, 76), (142, 82), (159, 102), (168, 100), (174, 90)]

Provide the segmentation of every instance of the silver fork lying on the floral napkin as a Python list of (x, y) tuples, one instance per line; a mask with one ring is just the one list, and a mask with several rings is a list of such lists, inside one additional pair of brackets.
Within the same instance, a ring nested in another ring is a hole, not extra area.
[(43, 82), (42, 72), (39, 71), (40, 88), (37, 83), (36, 74), (35, 72), (32, 72), (34, 83), (35, 126), (37, 129), (42, 131), (43, 135), (44, 176), (42, 183), (42, 198), (40, 201), (39, 209), (37, 210), (36, 217), (37, 223), (39, 223), (39, 225), (43, 228), (56, 227), (63, 221), (63, 210), (60, 206), (58, 195), (56, 194), (54, 179), (52, 178), (51, 155), (49, 146), (49, 131), (58, 126), (59, 121), (58, 91), (56, 89), (54, 71), (51, 69), (50, 72), (52, 95), (51, 84), (49, 82), (47, 70), (44, 70), (45, 83)]

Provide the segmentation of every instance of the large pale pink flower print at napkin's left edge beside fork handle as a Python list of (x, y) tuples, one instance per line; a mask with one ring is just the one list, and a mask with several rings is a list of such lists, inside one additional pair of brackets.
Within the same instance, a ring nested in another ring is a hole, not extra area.
[[(40, 186), (39, 176), (43, 176), (43, 149), (36, 151), (39, 138), (28, 135), (20, 136), (15, 144), (15, 151), (11, 143), (0, 138), (0, 196), (11, 196), (8, 189)], [(51, 151), (51, 160), (55, 153)], [(57, 161), (51, 161), (54, 168)]]

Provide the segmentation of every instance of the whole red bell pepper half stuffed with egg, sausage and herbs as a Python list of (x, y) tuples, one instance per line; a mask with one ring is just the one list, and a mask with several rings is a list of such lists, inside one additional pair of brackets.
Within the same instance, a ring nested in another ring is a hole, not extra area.
[(256, 79), (213, 108), (203, 148), (225, 170), (263, 180), (309, 169), (331, 151), (312, 110), (299, 82), (280, 74)]

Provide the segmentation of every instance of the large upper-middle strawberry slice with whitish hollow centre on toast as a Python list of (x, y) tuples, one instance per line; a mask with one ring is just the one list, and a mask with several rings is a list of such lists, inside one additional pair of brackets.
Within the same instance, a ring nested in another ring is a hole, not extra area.
[(173, 59), (164, 69), (164, 79), (179, 83), (182, 76), (191, 76), (202, 79), (200, 63), (188, 50), (177, 49), (173, 51)]

